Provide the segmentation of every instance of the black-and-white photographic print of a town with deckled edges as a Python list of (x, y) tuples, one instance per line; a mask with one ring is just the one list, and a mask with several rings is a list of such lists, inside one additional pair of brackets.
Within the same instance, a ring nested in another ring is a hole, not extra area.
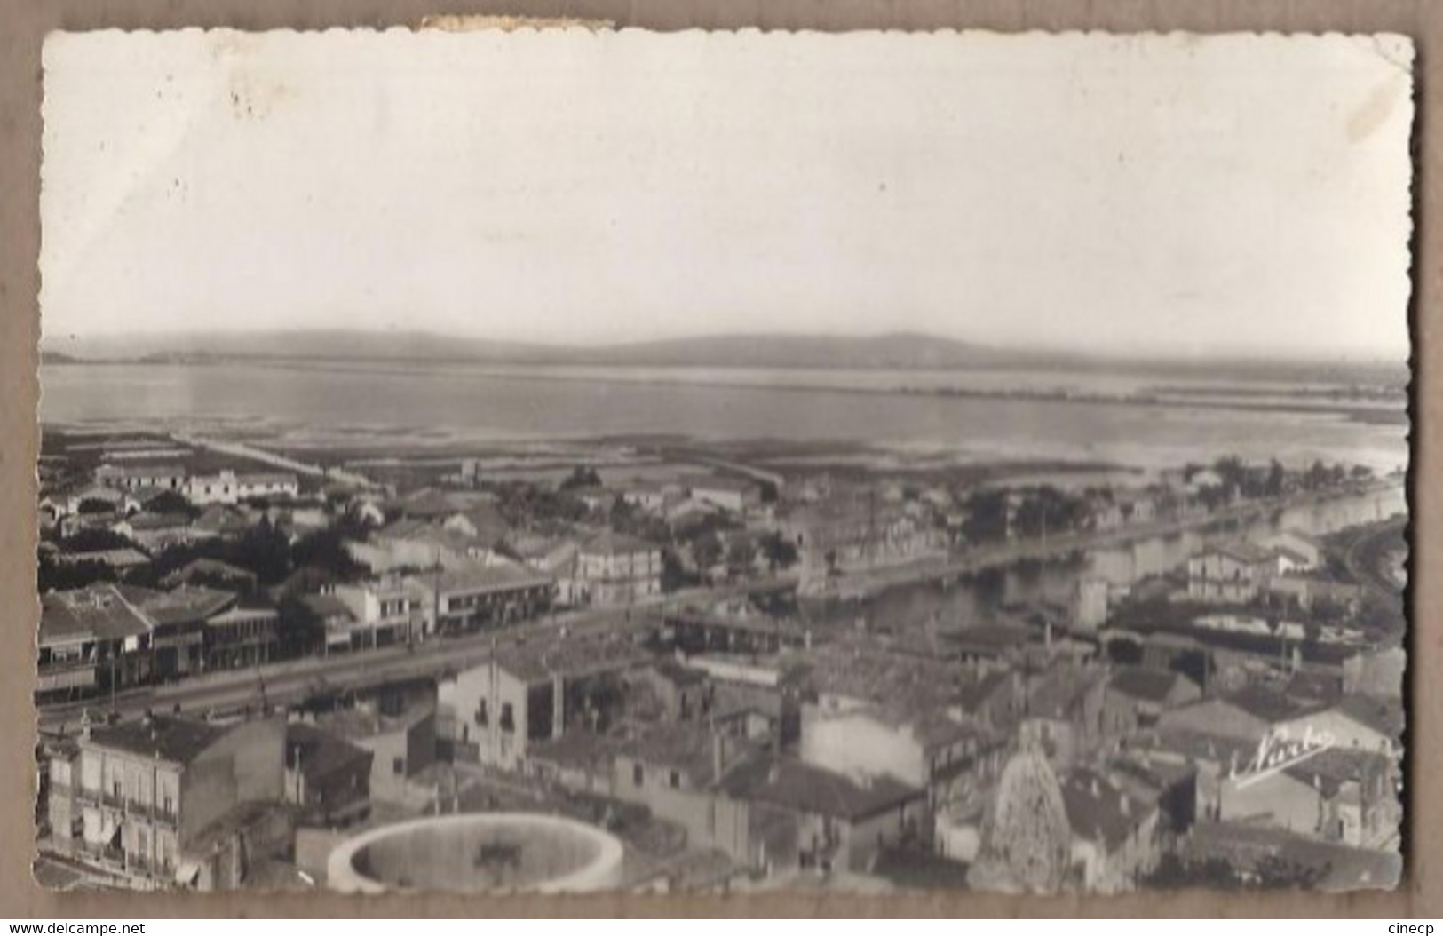
[(52, 35), (38, 880), (1397, 886), (1411, 71)]

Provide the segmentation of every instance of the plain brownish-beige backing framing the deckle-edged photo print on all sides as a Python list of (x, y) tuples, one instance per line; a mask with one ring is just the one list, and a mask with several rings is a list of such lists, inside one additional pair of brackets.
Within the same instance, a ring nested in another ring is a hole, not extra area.
[[(431, 13), (610, 20), (655, 30), (1397, 32), (1418, 43), (1414, 241), (1414, 587), (1405, 881), (1392, 893), (1114, 899), (51, 894), (33, 884), (32, 665), (39, 336), (40, 40), (52, 29), (410, 26)], [(0, 917), (193, 916), (1443, 916), (1443, 3), (1433, 0), (4, 0), (0, 3)], [(1381, 924), (1380, 924), (1381, 926)]]

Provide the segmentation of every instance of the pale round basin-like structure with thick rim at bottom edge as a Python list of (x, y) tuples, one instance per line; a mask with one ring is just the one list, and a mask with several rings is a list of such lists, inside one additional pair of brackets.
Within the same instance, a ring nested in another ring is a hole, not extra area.
[(332, 849), (326, 883), (342, 893), (395, 890), (541, 893), (620, 884), (622, 844), (596, 826), (538, 813), (457, 813), (395, 822)]

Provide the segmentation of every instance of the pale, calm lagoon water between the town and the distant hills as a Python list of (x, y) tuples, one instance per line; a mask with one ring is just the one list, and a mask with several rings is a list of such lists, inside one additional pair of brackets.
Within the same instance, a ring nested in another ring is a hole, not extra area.
[(880, 392), (942, 385), (1113, 394), (1139, 385), (1111, 374), (128, 363), (49, 365), (40, 381), (42, 420), (52, 424), (273, 420), (486, 441), (661, 433), (1137, 467), (1232, 451), (1390, 472), (1408, 457), (1407, 427), (1329, 412)]

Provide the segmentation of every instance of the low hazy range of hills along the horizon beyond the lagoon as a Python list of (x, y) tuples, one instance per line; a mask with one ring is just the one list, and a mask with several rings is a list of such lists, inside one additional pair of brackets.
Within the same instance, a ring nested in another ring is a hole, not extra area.
[(1401, 363), (1095, 356), (996, 348), (895, 332), (874, 336), (713, 335), (602, 346), (492, 342), (431, 332), (216, 332), (65, 337), (45, 342), (43, 363), (203, 363), (221, 361), (433, 362), (768, 369), (1063, 369), (1133, 374), (1195, 372), (1244, 379), (1401, 384)]

